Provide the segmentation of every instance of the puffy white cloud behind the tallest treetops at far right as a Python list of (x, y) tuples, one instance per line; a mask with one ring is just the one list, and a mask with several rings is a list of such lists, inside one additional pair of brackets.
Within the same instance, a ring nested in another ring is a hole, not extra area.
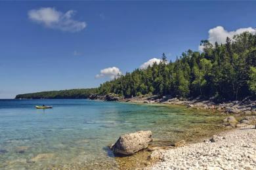
[[(208, 41), (214, 44), (215, 42), (218, 42), (219, 44), (225, 44), (226, 43), (226, 37), (229, 37), (232, 39), (234, 35), (238, 35), (240, 33), (244, 33), (245, 31), (249, 33), (255, 33), (256, 29), (252, 27), (245, 27), (245, 28), (240, 28), (236, 29), (236, 31), (226, 31), (224, 27), (222, 26), (217, 26), (208, 31), (209, 37)], [(203, 50), (203, 46), (199, 46), (199, 50)]]

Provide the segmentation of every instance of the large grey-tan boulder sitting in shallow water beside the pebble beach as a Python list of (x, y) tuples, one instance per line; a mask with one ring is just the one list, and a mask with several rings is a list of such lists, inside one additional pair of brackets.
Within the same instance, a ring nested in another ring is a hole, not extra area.
[(117, 156), (130, 156), (148, 148), (151, 141), (151, 131), (138, 131), (122, 135), (111, 148)]

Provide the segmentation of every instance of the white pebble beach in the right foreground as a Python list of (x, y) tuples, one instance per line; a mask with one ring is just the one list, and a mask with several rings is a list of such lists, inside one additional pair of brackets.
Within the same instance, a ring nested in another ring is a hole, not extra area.
[(163, 151), (147, 169), (256, 169), (255, 126), (225, 131), (202, 143)]

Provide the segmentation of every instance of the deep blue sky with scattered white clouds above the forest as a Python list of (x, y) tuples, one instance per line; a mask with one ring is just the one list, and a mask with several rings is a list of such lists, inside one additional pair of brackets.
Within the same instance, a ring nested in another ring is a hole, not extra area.
[(0, 1), (0, 98), (94, 88), (255, 31), (256, 1)]

